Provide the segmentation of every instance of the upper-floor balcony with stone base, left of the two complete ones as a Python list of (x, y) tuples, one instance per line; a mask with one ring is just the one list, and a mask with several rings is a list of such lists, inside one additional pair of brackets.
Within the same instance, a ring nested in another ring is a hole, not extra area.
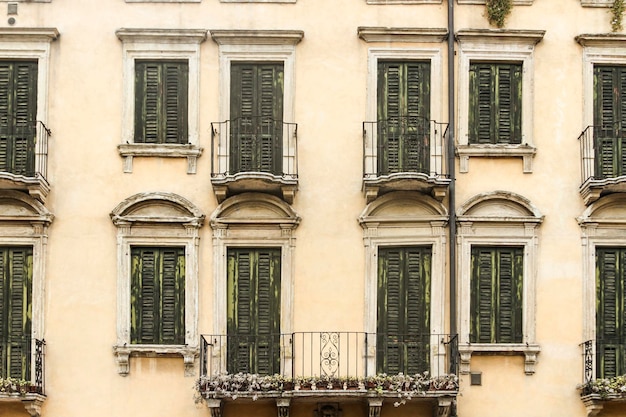
[(211, 183), (218, 202), (243, 192), (293, 203), (298, 189), (296, 123), (241, 117), (211, 123)]

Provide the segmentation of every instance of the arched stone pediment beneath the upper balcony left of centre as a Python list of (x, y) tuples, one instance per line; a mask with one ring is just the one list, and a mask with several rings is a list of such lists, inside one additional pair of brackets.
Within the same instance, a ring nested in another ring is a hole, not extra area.
[(211, 216), (211, 226), (229, 223), (300, 223), (300, 217), (283, 200), (263, 193), (244, 193), (226, 199)]

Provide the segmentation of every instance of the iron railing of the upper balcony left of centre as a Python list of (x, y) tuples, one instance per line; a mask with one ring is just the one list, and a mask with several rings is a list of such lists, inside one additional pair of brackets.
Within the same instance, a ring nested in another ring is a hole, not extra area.
[(269, 117), (240, 117), (211, 123), (211, 176), (262, 172), (298, 177), (296, 123)]

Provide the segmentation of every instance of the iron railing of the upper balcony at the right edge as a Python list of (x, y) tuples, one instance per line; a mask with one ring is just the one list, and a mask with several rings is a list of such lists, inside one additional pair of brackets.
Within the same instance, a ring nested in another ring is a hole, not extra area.
[(582, 183), (626, 175), (626, 130), (587, 126), (578, 141)]

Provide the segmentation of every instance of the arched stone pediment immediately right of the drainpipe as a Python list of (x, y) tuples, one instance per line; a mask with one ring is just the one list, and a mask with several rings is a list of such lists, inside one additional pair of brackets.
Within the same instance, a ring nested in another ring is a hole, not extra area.
[(543, 216), (530, 200), (507, 191), (494, 191), (472, 197), (457, 210), (457, 217), (459, 220), (543, 220)]

